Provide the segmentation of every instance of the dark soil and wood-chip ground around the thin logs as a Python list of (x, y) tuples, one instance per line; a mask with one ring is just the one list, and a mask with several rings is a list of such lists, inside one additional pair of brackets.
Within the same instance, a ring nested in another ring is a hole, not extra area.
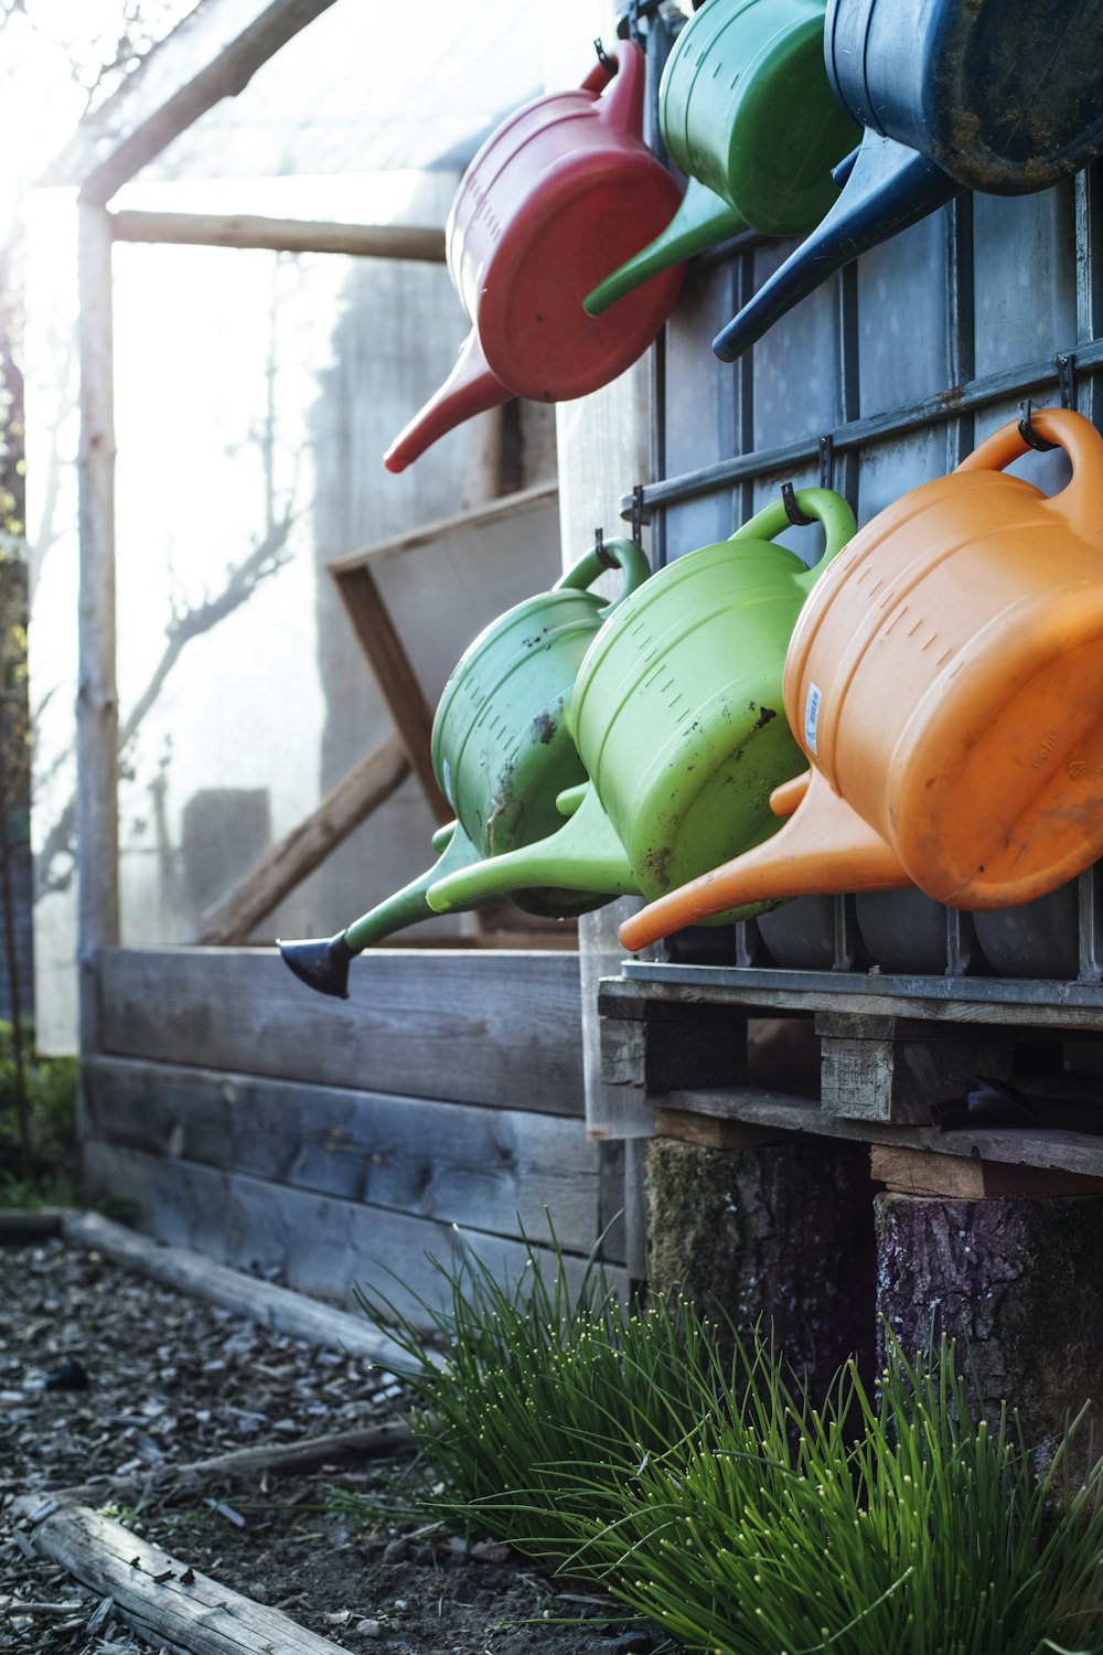
[(45, 1498), (119, 1473), (137, 1478), (136, 1498), (104, 1499), (106, 1511), (336, 1648), (630, 1655), (663, 1643), (612, 1600), (551, 1582), (503, 1546), (415, 1518), (332, 1509), (339, 1490), (399, 1504), (408, 1451), (356, 1470), (157, 1496), (169, 1465), (364, 1427), (405, 1400), (362, 1362), (268, 1332), (96, 1253), (61, 1241), (0, 1248), (0, 1650), (159, 1647), (129, 1630), (109, 1600), (26, 1556), (10, 1513), (20, 1494)]

